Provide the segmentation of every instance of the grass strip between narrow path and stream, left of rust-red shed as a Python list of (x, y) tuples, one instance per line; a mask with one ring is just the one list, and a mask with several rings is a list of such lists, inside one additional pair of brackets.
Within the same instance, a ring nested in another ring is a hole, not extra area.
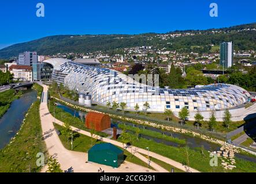
[[(54, 116), (54, 101), (50, 101), (50, 113), (52, 116)], [(62, 122), (67, 122), (68, 124), (70, 124), (73, 127), (76, 128), (80, 128), (83, 131), (88, 131), (90, 132), (90, 129), (85, 127), (85, 123), (80, 120), (77, 117), (72, 116), (71, 114), (69, 114), (68, 112), (65, 112), (63, 109), (55, 107), (55, 118), (62, 121)], [(109, 136), (107, 133), (104, 132), (98, 132), (95, 131), (96, 135), (102, 136), (102, 137), (107, 137)]]

